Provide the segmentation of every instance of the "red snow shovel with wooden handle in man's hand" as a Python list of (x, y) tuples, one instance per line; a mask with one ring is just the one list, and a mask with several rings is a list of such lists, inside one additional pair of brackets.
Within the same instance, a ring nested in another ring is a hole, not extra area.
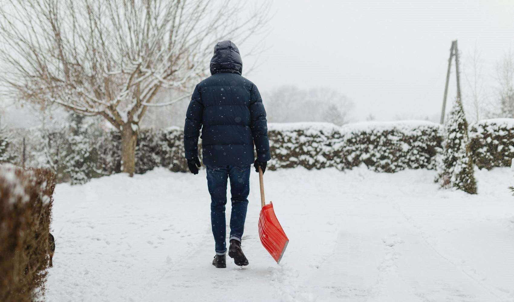
[(264, 248), (269, 252), (271, 257), (280, 262), (282, 256), (289, 243), (286, 233), (282, 230), (275, 211), (273, 211), (273, 204), (269, 202), (266, 204), (264, 199), (264, 182), (262, 177), (262, 169), (259, 167), (259, 184), (261, 185), (261, 216), (259, 217), (259, 237)]

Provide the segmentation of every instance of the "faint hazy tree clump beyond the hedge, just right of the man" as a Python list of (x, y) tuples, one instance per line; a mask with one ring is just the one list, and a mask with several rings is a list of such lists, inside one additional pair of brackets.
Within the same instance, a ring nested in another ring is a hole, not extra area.
[(271, 122), (348, 122), (353, 103), (341, 92), (318, 87), (308, 90), (282, 86), (265, 95), (268, 120)]

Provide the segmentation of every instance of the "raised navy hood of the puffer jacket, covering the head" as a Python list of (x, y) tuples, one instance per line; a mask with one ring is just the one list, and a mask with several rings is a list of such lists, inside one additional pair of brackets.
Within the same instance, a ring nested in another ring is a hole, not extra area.
[(241, 75), (243, 73), (243, 60), (239, 49), (232, 41), (222, 41), (214, 46), (214, 56), (211, 59), (211, 74), (218, 72), (231, 72)]

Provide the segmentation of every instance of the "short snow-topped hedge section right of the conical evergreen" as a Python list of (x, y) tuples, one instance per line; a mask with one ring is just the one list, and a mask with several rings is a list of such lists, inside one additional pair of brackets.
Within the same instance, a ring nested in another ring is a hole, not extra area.
[(481, 120), (470, 127), (471, 150), (479, 168), (508, 167), (514, 158), (514, 119)]

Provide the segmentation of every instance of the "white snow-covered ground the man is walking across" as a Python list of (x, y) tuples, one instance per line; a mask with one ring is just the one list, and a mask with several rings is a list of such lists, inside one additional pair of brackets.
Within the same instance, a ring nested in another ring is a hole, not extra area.
[(426, 170), (299, 167), (264, 176), (290, 242), (280, 265), (261, 246), (252, 173), (243, 269), (230, 258), (226, 269), (211, 265), (205, 170), (58, 185), (47, 300), (514, 300), (508, 168), (479, 171), (475, 196), (438, 190)]

